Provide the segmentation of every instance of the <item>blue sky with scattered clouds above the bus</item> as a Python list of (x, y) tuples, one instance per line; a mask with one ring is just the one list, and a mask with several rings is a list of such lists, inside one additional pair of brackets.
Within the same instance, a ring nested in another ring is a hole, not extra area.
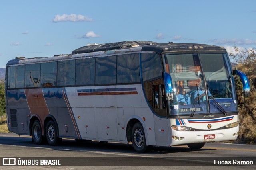
[(256, 47), (256, 0), (0, 0), (0, 68), (88, 43)]

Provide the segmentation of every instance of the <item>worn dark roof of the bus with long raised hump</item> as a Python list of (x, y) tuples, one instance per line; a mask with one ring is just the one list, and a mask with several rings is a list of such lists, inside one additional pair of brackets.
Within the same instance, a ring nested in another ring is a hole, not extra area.
[(53, 57), (34, 57), (34, 58), (25, 58), (25, 57), (16, 57), (13, 60), (8, 61), (6, 64), (25, 64), (25, 63), (41, 63), (49, 61), (58, 61), (76, 57), (88, 57), (88, 56), (100, 56), (100, 55), (109, 55), (109, 54), (120, 54), (134, 51), (153, 51), (156, 53), (163, 52), (186, 52), (186, 51), (222, 51), (226, 52), (224, 47), (219, 47), (215, 45), (206, 45), (206, 44), (195, 44), (195, 43), (156, 43), (152, 41), (122, 41), (116, 43), (106, 43), (106, 44), (97, 44), (97, 45), (88, 45), (80, 47), (74, 51), (72, 54), (67, 55), (54, 55)]

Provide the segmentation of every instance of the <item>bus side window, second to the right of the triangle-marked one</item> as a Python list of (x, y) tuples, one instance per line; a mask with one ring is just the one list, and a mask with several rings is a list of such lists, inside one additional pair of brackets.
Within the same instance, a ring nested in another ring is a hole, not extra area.
[(75, 85), (75, 60), (58, 61), (58, 86)]

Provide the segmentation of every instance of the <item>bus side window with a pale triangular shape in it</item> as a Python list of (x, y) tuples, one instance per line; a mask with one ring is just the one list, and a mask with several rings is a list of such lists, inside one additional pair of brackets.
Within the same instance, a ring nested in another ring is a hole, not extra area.
[(28, 64), (25, 66), (25, 87), (40, 86), (40, 64)]

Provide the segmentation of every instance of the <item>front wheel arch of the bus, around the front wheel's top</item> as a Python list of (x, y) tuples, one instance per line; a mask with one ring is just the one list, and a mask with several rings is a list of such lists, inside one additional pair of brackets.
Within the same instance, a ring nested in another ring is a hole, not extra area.
[(126, 141), (127, 141), (127, 143), (132, 141), (132, 127), (137, 122), (141, 123), (141, 125), (144, 129), (146, 143), (148, 143), (148, 131), (146, 129), (146, 125), (145, 125), (144, 121), (142, 120), (142, 118), (140, 118), (138, 116), (132, 116), (126, 122)]

